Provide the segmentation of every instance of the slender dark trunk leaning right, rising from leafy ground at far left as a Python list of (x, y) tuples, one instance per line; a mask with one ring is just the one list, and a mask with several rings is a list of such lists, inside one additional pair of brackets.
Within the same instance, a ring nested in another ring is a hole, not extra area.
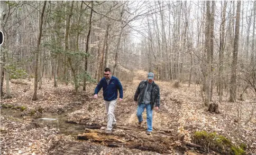
[(42, 27), (43, 27), (43, 14), (44, 9), (46, 6), (47, 1), (44, 1), (43, 3), (43, 9), (41, 14), (41, 21), (40, 21), (40, 27), (39, 27), (39, 35), (38, 35), (38, 45), (36, 46), (36, 53), (35, 53), (35, 79), (34, 79), (34, 94), (32, 100), (37, 100), (37, 90), (38, 90), (38, 60), (39, 60), (39, 51), (40, 51), (40, 44), (41, 44), (41, 37), (42, 37)]

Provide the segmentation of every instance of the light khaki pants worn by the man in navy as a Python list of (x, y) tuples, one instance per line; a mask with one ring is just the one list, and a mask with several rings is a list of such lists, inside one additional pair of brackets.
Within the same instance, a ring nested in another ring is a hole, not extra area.
[(112, 130), (112, 125), (116, 124), (116, 119), (114, 115), (116, 101), (117, 99), (112, 101), (105, 101), (107, 111), (107, 130)]

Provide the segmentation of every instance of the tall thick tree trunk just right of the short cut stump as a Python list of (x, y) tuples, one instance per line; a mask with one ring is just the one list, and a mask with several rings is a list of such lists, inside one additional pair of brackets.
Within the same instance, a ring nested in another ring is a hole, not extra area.
[(241, 7), (241, 1), (237, 1), (234, 51), (233, 51), (233, 61), (232, 61), (232, 68), (231, 68), (230, 102), (235, 102), (236, 100), (236, 67), (237, 67), (237, 53), (238, 53), (238, 44), (239, 44), (240, 7)]

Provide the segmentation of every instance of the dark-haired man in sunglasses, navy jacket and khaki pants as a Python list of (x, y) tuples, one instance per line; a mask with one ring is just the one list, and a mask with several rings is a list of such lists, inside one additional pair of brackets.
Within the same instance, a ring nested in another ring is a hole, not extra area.
[(116, 119), (114, 115), (117, 90), (119, 90), (119, 101), (123, 100), (123, 87), (121, 82), (111, 75), (111, 70), (106, 68), (104, 70), (104, 78), (102, 78), (94, 90), (94, 98), (98, 98), (98, 92), (103, 88), (103, 97), (107, 111), (107, 133), (111, 133), (113, 127), (116, 125)]

